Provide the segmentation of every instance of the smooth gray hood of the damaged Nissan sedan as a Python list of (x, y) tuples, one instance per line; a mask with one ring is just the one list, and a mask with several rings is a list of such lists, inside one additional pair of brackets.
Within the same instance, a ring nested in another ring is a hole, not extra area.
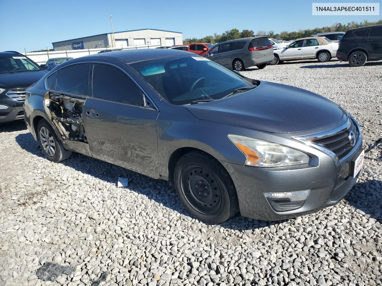
[(273, 82), (261, 82), (245, 93), (185, 108), (198, 119), (274, 133), (316, 129), (346, 116), (340, 106), (323, 96)]

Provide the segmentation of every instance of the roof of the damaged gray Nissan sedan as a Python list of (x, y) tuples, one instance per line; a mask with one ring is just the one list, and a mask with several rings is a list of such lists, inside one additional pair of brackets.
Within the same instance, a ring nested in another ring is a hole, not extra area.
[(137, 61), (146, 61), (151, 59), (165, 58), (168, 56), (182, 56), (182, 55), (193, 55), (197, 56), (194, 53), (190, 53), (188, 51), (183, 50), (175, 50), (175, 49), (131, 49), (131, 50), (123, 50), (123, 51), (110, 51), (108, 53), (97, 53), (94, 55), (83, 56), (81, 58), (76, 58), (70, 63), (74, 63), (76, 61), (92, 61), (97, 60), (98, 57), (109, 57), (115, 58), (123, 61), (126, 64), (135, 63)]

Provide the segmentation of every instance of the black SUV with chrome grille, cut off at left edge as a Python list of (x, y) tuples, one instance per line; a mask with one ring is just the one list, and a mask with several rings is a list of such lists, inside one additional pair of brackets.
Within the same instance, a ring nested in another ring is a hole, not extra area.
[(46, 73), (21, 53), (0, 52), (0, 123), (24, 119), (25, 89)]

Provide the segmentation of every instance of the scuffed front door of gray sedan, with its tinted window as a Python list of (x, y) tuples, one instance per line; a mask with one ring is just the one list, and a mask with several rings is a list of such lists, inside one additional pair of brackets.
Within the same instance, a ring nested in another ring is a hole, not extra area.
[(92, 155), (154, 178), (158, 171), (157, 117), (142, 90), (121, 69), (94, 64), (92, 98), (84, 105)]

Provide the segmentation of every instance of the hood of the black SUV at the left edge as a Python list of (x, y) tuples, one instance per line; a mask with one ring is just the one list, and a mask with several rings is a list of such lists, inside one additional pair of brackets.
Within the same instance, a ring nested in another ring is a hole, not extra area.
[(0, 87), (27, 88), (42, 78), (47, 71), (15, 72), (13, 74), (0, 74)]

